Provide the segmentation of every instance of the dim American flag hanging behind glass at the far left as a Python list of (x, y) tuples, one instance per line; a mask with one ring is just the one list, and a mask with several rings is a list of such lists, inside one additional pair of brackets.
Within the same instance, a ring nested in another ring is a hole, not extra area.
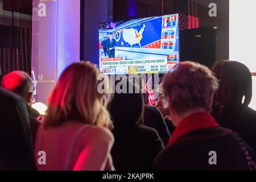
[(2, 74), (14, 70), (31, 72), (31, 28), (0, 25)]

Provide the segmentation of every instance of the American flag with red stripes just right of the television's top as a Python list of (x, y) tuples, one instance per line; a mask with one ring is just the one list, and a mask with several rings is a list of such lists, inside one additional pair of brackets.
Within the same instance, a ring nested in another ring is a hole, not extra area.
[(181, 30), (199, 28), (197, 3), (192, 0), (175, 0), (176, 13), (179, 13)]

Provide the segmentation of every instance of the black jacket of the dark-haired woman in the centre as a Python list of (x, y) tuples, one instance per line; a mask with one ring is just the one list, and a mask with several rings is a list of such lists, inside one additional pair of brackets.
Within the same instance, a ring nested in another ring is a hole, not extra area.
[(114, 167), (118, 171), (151, 170), (156, 155), (164, 148), (155, 129), (140, 124), (113, 130)]

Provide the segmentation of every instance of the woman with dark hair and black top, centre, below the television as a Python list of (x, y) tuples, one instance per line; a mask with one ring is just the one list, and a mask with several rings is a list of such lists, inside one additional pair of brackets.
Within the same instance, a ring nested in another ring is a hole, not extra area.
[[(127, 88), (138, 89), (130, 82)], [(143, 107), (142, 93), (114, 94), (109, 109), (115, 138), (111, 154), (117, 170), (150, 170), (163, 149), (158, 132), (142, 125)]]

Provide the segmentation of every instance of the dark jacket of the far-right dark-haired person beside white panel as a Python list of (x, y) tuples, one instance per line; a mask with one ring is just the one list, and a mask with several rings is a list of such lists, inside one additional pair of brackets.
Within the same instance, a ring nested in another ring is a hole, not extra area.
[(243, 140), (256, 154), (256, 111), (250, 107), (241, 107), (238, 111), (222, 111), (217, 118), (220, 126), (232, 129), (241, 135)]

